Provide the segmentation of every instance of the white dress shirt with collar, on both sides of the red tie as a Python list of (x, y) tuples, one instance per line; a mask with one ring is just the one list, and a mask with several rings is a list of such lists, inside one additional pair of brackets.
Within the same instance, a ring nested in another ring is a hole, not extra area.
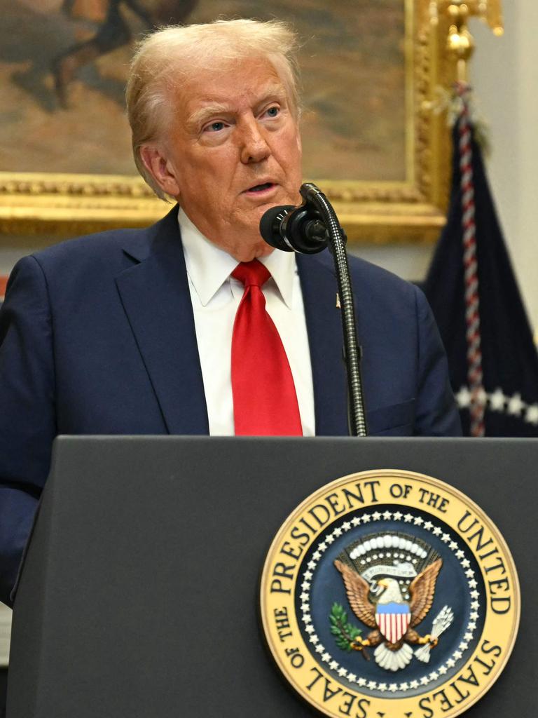
[[(245, 288), (240, 281), (230, 277), (237, 260), (204, 237), (181, 209), (179, 226), (202, 366), (209, 434), (233, 436), (232, 330)], [(295, 254), (275, 250), (260, 261), (271, 273), (263, 285), (263, 294), (268, 314), (288, 355), (303, 436), (314, 436), (312, 367)]]

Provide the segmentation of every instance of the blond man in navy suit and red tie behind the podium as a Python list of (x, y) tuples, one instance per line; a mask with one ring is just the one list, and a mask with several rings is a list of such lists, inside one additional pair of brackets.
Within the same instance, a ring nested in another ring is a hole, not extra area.
[[(299, 202), (295, 47), (282, 24), (249, 20), (148, 37), (128, 83), (133, 149), (151, 187), (179, 203), (179, 227), (174, 208), (147, 230), (63, 243), (14, 269), (0, 317), (2, 600), (56, 434), (347, 433), (331, 258), (296, 261), (258, 230), (265, 210)], [(262, 265), (270, 320), (244, 274)], [(364, 261), (351, 271), (370, 433), (458, 434), (422, 295)], [(280, 344), (283, 383), (267, 381), (265, 342)]]

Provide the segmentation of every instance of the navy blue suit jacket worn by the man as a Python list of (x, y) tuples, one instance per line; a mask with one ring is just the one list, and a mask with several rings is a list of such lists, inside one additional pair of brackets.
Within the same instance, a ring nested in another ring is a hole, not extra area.
[[(351, 258), (374, 435), (453, 435), (459, 419), (432, 314), (415, 286)], [(316, 434), (347, 434), (329, 253), (298, 256)], [(0, 314), (0, 599), (9, 602), (57, 434), (207, 434), (176, 211), (145, 230), (22, 259)]]

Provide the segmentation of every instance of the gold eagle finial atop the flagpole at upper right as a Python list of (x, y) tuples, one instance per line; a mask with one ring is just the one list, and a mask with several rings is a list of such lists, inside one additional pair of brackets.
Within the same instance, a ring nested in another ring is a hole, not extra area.
[(437, 25), (441, 14), (448, 18), (447, 52), (456, 61), (458, 81), (467, 81), (467, 65), (475, 42), (468, 29), (470, 17), (479, 17), (496, 35), (504, 32), (501, 0), (431, 0), (430, 19)]

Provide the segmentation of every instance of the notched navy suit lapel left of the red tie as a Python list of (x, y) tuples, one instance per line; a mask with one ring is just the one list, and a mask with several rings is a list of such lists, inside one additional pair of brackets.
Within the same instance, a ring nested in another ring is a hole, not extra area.
[(116, 278), (118, 292), (170, 434), (208, 434), (187, 270), (176, 209), (126, 247), (138, 264)]

